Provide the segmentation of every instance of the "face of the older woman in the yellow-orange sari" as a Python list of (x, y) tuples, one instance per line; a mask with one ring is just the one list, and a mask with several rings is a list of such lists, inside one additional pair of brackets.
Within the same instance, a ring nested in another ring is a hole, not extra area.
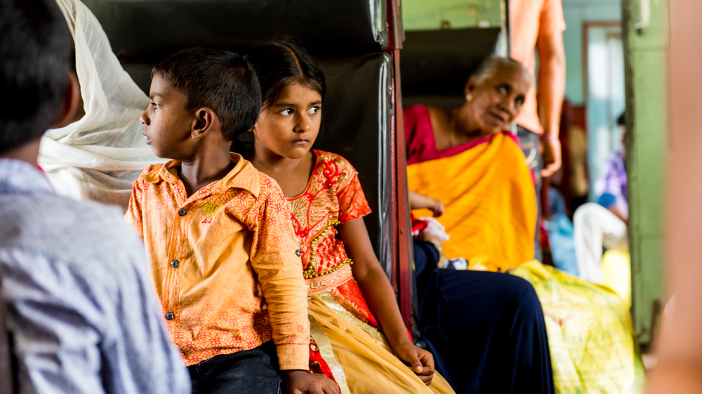
[(507, 64), (498, 67), (481, 83), (471, 77), (465, 86), (470, 98), (473, 124), (489, 134), (508, 130), (522, 111), (522, 104), (531, 86), (531, 77), (522, 67)]

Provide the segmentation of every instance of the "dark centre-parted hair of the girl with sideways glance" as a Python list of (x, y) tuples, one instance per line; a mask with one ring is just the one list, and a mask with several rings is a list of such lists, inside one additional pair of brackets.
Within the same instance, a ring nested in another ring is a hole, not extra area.
[(273, 104), (291, 83), (317, 90), (324, 100), (324, 73), (303, 48), (288, 42), (263, 43), (251, 48), (244, 58), (249, 60), (258, 75), (263, 107)]

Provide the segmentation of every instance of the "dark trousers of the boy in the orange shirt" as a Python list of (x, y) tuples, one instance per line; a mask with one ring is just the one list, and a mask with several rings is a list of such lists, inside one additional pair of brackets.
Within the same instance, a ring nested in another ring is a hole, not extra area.
[(273, 341), (248, 351), (216, 355), (187, 369), (194, 394), (283, 392), (283, 379)]

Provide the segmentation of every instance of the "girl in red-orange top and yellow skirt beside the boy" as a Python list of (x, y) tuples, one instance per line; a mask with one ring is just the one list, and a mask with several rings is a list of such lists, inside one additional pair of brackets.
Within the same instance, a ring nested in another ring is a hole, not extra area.
[(305, 50), (285, 43), (253, 48), (246, 59), (263, 91), (246, 157), (279, 182), (292, 209), (310, 294), (310, 367), (342, 393), (452, 393), (404, 326), (366, 231), (371, 211), (356, 170), (341, 156), (312, 150), (324, 74)]

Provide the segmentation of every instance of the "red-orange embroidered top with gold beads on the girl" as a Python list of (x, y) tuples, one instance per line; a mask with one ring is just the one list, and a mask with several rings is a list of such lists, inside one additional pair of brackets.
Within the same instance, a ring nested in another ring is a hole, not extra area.
[(356, 169), (345, 158), (313, 150), (316, 163), (307, 189), (288, 198), (293, 228), (300, 239), (307, 292), (329, 292), (358, 318), (378, 327), (336, 226), (371, 213)]

